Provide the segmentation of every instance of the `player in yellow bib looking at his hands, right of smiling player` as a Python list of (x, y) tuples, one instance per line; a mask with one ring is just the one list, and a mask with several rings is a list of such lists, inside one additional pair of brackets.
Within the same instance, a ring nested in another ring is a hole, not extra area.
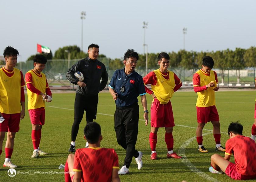
[(199, 152), (208, 152), (203, 145), (203, 128), (209, 121), (213, 125), (213, 136), (217, 151), (225, 152), (225, 148), (220, 144), (220, 123), (219, 114), (215, 107), (215, 91), (219, 90), (218, 77), (212, 71), (214, 61), (210, 56), (204, 56), (202, 69), (193, 76), (194, 91), (197, 93), (197, 143)]

